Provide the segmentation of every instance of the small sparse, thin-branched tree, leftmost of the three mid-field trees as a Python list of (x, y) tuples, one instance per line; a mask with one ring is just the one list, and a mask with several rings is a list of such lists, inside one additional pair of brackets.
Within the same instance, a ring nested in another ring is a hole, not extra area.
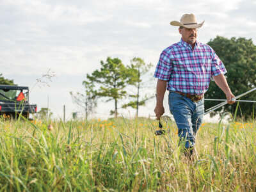
[(93, 109), (97, 107), (97, 98), (95, 96), (95, 92), (93, 91), (93, 83), (90, 81), (83, 81), (84, 85), (84, 93), (72, 93), (70, 95), (74, 103), (84, 109), (85, 118), (87, 120), (90, 113), (93, 112)]

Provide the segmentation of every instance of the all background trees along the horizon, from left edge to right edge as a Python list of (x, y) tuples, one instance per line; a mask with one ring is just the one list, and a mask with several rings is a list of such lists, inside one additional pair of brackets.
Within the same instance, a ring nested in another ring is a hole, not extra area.
[[(240, 95), (256, 86), (256, 45), (252, 39), (235, 38), (230, 39), (223, 36), (216, 36), (208, 43), (216, 54), (223, 61), (227, 68), (227, 81), (234, 93)], [(97, 106), (97, 99), (106, 98), (106, 102), (113, 100), (114, 106), (110, 111), (112, 115), (118, 115), (120, 108), (136, 109), (136, 116), (140, 106), (145, 105), (152, 95), (141, 95), (141, 88), (145, 86), (145, 75), (149, 72), (152, 64), (146, 64), (141, 58), (134, 58), (129, 65), (124, 65), (119, 58), (108, 57), (106, 61), (100, 61), (100, 69), (92, 74), (86, 74), (83, 81), (84, 92), (72, 93), (71, 97), (80, 106), (83, 106), (88, 114)], [(144, 84), (143, 84), (144, 83)], [(5, 79), (0, 74), (0, 84), (14, 84), (13, 80)], [(152, 84), (152, 83), (151, 83)], [(134, 93), (127, 92), (127, 87), (131, 86)], [(152, 88), (151, 88), (152, 89)], [(152, 92), (155, 90), (152, 89)], [(129, 98), (129, 102), (119, 106), (120, 100)], [(220, 91), (214, 82), (210, 83), (209, 90), (205, 93), (207, 99), (225, 99), (225, 94)], [(243, 100), (256, 100), (256, 92), (252, 92)], [(205, 101), (205, 109), (218, 104), (216, 101)], [(226, 105), (211, 113), (211, 116), (230, 111), (236, 111), (237, 104)], [(252, 103), (239, 103), (237, 117), (254, 118), (255, 105)], [(153, 109), (152, 109), (153, 110)]]

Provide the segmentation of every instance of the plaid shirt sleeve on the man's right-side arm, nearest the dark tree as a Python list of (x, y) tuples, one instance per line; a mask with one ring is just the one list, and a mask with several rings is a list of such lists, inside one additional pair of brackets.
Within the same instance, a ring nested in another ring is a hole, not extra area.
[(211, 58), (211, 77), (218, 76), (220, 74), (226, 74), (227, 70), (218, 57), (218, 55), (212, 50), (212, 58)]

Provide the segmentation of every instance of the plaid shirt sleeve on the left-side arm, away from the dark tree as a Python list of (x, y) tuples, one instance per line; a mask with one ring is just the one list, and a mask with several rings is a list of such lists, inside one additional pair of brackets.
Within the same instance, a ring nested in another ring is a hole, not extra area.
[(170, 60), (170, 53), (163, 51), (160, 55), (156, 66), (154, 77), (163, 81), (169, 81), (172, 73), (172, 63)]

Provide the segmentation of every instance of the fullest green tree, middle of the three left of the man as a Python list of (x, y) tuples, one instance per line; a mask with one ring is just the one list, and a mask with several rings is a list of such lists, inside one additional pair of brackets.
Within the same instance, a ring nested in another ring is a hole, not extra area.
[(111, 115), (115, 114), (116, 117), (118, 101), (127, 94), (124, 90), (127, 84), (131, 84), (131, 72), (118, 58), (108, 57), (106, 63), (100, 61), (100, 65), (100, 70), (95, 70), (92, 75), (87, 74), (89, 81), (86, 82), (99, 86), (94, 92), (96, 96), (107, 97), (107, 102), (114, 100), (115, 110), (111, 110)]

